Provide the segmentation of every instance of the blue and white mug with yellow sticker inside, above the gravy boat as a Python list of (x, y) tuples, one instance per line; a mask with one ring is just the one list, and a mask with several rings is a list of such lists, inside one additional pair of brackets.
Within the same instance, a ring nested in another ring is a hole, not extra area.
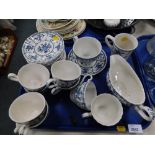
[(128, 59), (138, 46), (137, 38), (128, 33), (120, 33), (115, 37), (107, 35), (105, 42), (112, 50), (112, 54), (119, 54), (125, 59)]

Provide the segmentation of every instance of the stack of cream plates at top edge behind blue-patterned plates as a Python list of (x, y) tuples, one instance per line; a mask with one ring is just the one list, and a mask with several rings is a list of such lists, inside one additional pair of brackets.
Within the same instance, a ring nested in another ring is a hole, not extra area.
[(80, 35), (85, 30), (86, 23), (80, 19), (39, 19), (36, 28), (38, 32), (56, 31), (68, 40)]

